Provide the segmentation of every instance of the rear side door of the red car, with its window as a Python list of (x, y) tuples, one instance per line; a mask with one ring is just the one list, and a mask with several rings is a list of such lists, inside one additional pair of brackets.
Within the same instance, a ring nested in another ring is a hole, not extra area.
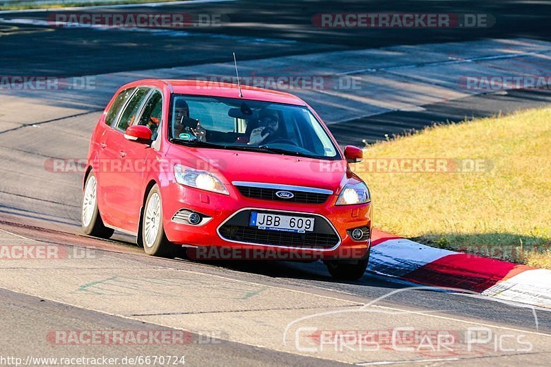
[[(129, 175), (134, 167), (132, 161), (126, 158), (127, 147), (132, 144), (124, 137), (127, 127), (134, 123), (138, 118), (138, 114), (145, 103), (145, 99), (150, 92), (149, 87), (138, 87), (129, 98), (125, 107), (119, 113), (118, 120), (114, 124), (113, 129), (107, 135), (104, 155), (106, 158), (107, 176), (109, 179), (104, 181), (105, 202), (107, 203), (107, 216), (109, 222), (114, 227), (128, 232), (134, 231), (134, 223), (132, 223), (132, 215), (129, 214), (128, 207), (131, 206), (129, 186), (138, 183), (132, 182)], [(126, 165), (125, 165), (126, 164)]]

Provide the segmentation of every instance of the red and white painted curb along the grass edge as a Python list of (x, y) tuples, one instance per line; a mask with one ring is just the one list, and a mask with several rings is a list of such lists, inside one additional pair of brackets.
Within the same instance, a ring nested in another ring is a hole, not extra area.
[(551, 308), (551, 270), (437, 249), (373, 230), (369, 270), (433, 287)]

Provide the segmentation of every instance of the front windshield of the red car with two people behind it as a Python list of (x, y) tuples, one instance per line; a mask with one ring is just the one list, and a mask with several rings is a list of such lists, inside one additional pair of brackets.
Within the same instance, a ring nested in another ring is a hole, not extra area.
[(174, 95), (172, 142), (211, 148), (340, 159), (306, 107), (237, 98)]

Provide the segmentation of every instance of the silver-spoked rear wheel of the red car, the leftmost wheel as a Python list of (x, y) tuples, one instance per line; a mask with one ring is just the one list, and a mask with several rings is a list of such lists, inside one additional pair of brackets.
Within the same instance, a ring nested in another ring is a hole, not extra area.
[(110, 238), (115, 230), (105, 227), (98, 210), (98, 181), (93, 172), (90, 172), (84, 186), (82, 199), (81, 223), (82, 230), (89, 236)]

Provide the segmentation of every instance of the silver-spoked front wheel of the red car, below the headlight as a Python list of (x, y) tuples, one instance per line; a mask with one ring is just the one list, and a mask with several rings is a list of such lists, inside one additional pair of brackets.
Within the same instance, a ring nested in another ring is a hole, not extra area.
[(147, 194), (139, 236), (147, 255), (170, 256), (174, 251), (175, 246), (168, 241), (163, 227), (163, 203), (157, 185)]

